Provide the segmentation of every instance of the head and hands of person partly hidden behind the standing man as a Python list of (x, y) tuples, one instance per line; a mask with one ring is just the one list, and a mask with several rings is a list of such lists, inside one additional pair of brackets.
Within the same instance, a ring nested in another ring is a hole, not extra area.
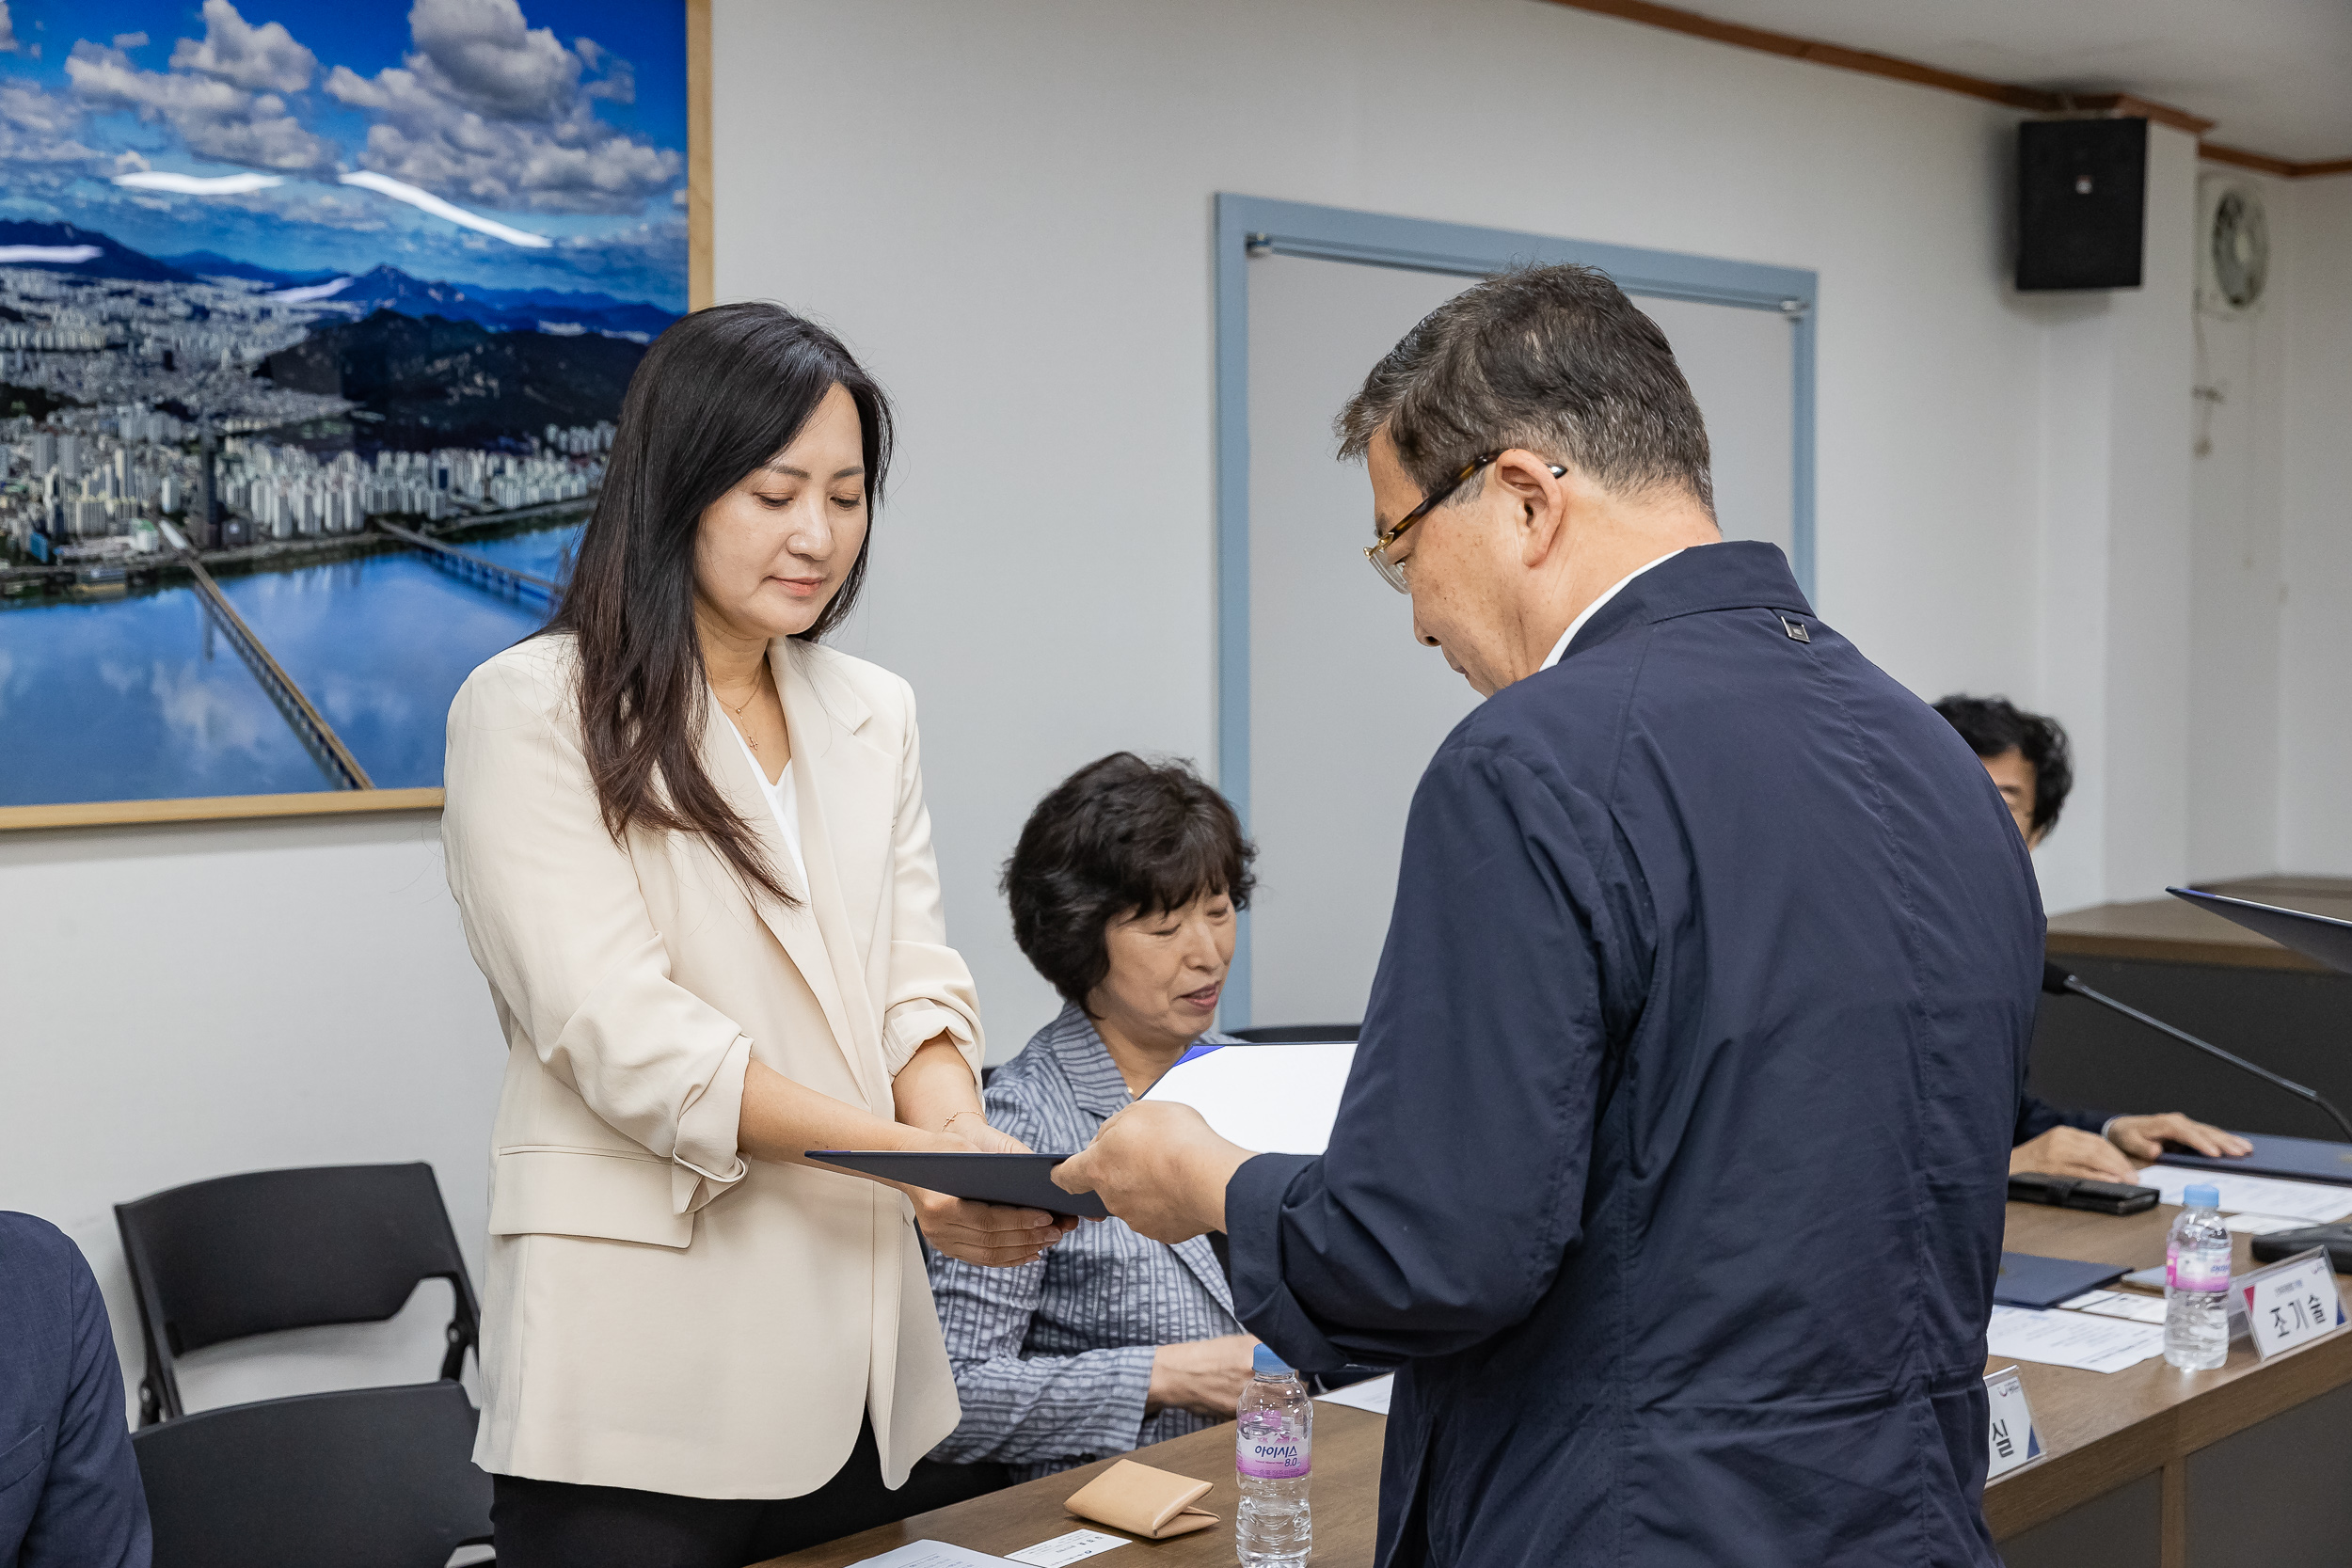
[[(1976, 759), (1985, 764), (1992, 785), (2009, 804), (2025, 849), (2039, 849), (2058, 825), (2067, 790), (2074, 788), (2074, 764), (2058, 719), (2025, 712), (2004, 696), (1952, 693), (1936, 712), (1959, 731)], [(2117, 1117), (2103, 1110), (2060, 1110), (2049, 1100), (2025, 1095), (2018, 1103), (2016, 1147), (2009, 1171), (2046, 1171), (2051, 1175), (2086, 1175), (2103, 1182), (2136, 1182), (2138, 1164), (2150, 1164), (2166, 1143), (2199, 1154), (2246, 1154), (2251, 1143), (2218, 1126), (2206, 1126), (2176, 1110), (2154, 1117)]]

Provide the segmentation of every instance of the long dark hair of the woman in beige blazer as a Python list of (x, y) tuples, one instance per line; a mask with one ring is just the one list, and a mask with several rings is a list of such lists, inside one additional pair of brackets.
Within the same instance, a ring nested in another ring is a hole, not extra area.
[[(546, 625), (579, 644), (581, 748), (612, 837), (633, 825), (699, 832), (746, 884), (786, 905), (790, 891), (696, 752), (708, 684), (694, 632), (694, 536), (703, 510), (790, 447), (835, 386), (858, 404), (870, 543), (891, 416), (842, 341), (769, 303), (673, 322), (628, 381), (604, 489)], [(800, 637), (814, 642), (851, 611), (868, 543)]]

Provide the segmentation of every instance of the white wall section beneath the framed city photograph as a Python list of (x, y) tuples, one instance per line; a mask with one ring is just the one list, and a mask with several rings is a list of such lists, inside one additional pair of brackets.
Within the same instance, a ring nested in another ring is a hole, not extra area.
[[(96, 1269), (143, 1363), (113, 1206), (233, 1171), (430, 1161), (482, 1279), (506, 1048), (435, 813), (0, 835), (0, 1208)], [(186, 1363), (191, 1408), (440, 1368), (449, 1298)]]

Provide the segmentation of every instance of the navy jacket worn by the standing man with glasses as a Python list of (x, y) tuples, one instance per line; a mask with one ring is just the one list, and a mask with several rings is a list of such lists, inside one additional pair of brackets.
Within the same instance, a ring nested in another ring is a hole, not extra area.
[(1771, 545), (1463, 719), (1329, 1150), (1225, 1192), (1242, 1324), (1402, 1361), (1378, 1561), (1992, 1568), (2039, 980), (1985, 769)]

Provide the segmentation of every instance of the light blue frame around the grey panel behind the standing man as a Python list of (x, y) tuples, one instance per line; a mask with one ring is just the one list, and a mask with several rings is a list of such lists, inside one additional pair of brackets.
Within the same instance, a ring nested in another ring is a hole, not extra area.
[[(1790, 567), (1813, 599), (1813, 331), (1820, 280), (1804, 268), (1651, 252), (1595, 240), (1557, 240), (1508, 228), (1399, 219), (1348, 207), (1216, 197), (1216, 778), (1249, 830), (1249, 259), (1305, 256), (1411, 273), (1486, 277), (1508, 266), (1573, 261), (1632, 296), (1771, 310), (1792, 341)], [(1367, 367), (1371, 369), (1371, 367)], [(1242, 910), (1218, 1027), (1247, 1030), (1249, 910)], [(1341, 1020), (1284, 1020), (1341, 1023)]]

